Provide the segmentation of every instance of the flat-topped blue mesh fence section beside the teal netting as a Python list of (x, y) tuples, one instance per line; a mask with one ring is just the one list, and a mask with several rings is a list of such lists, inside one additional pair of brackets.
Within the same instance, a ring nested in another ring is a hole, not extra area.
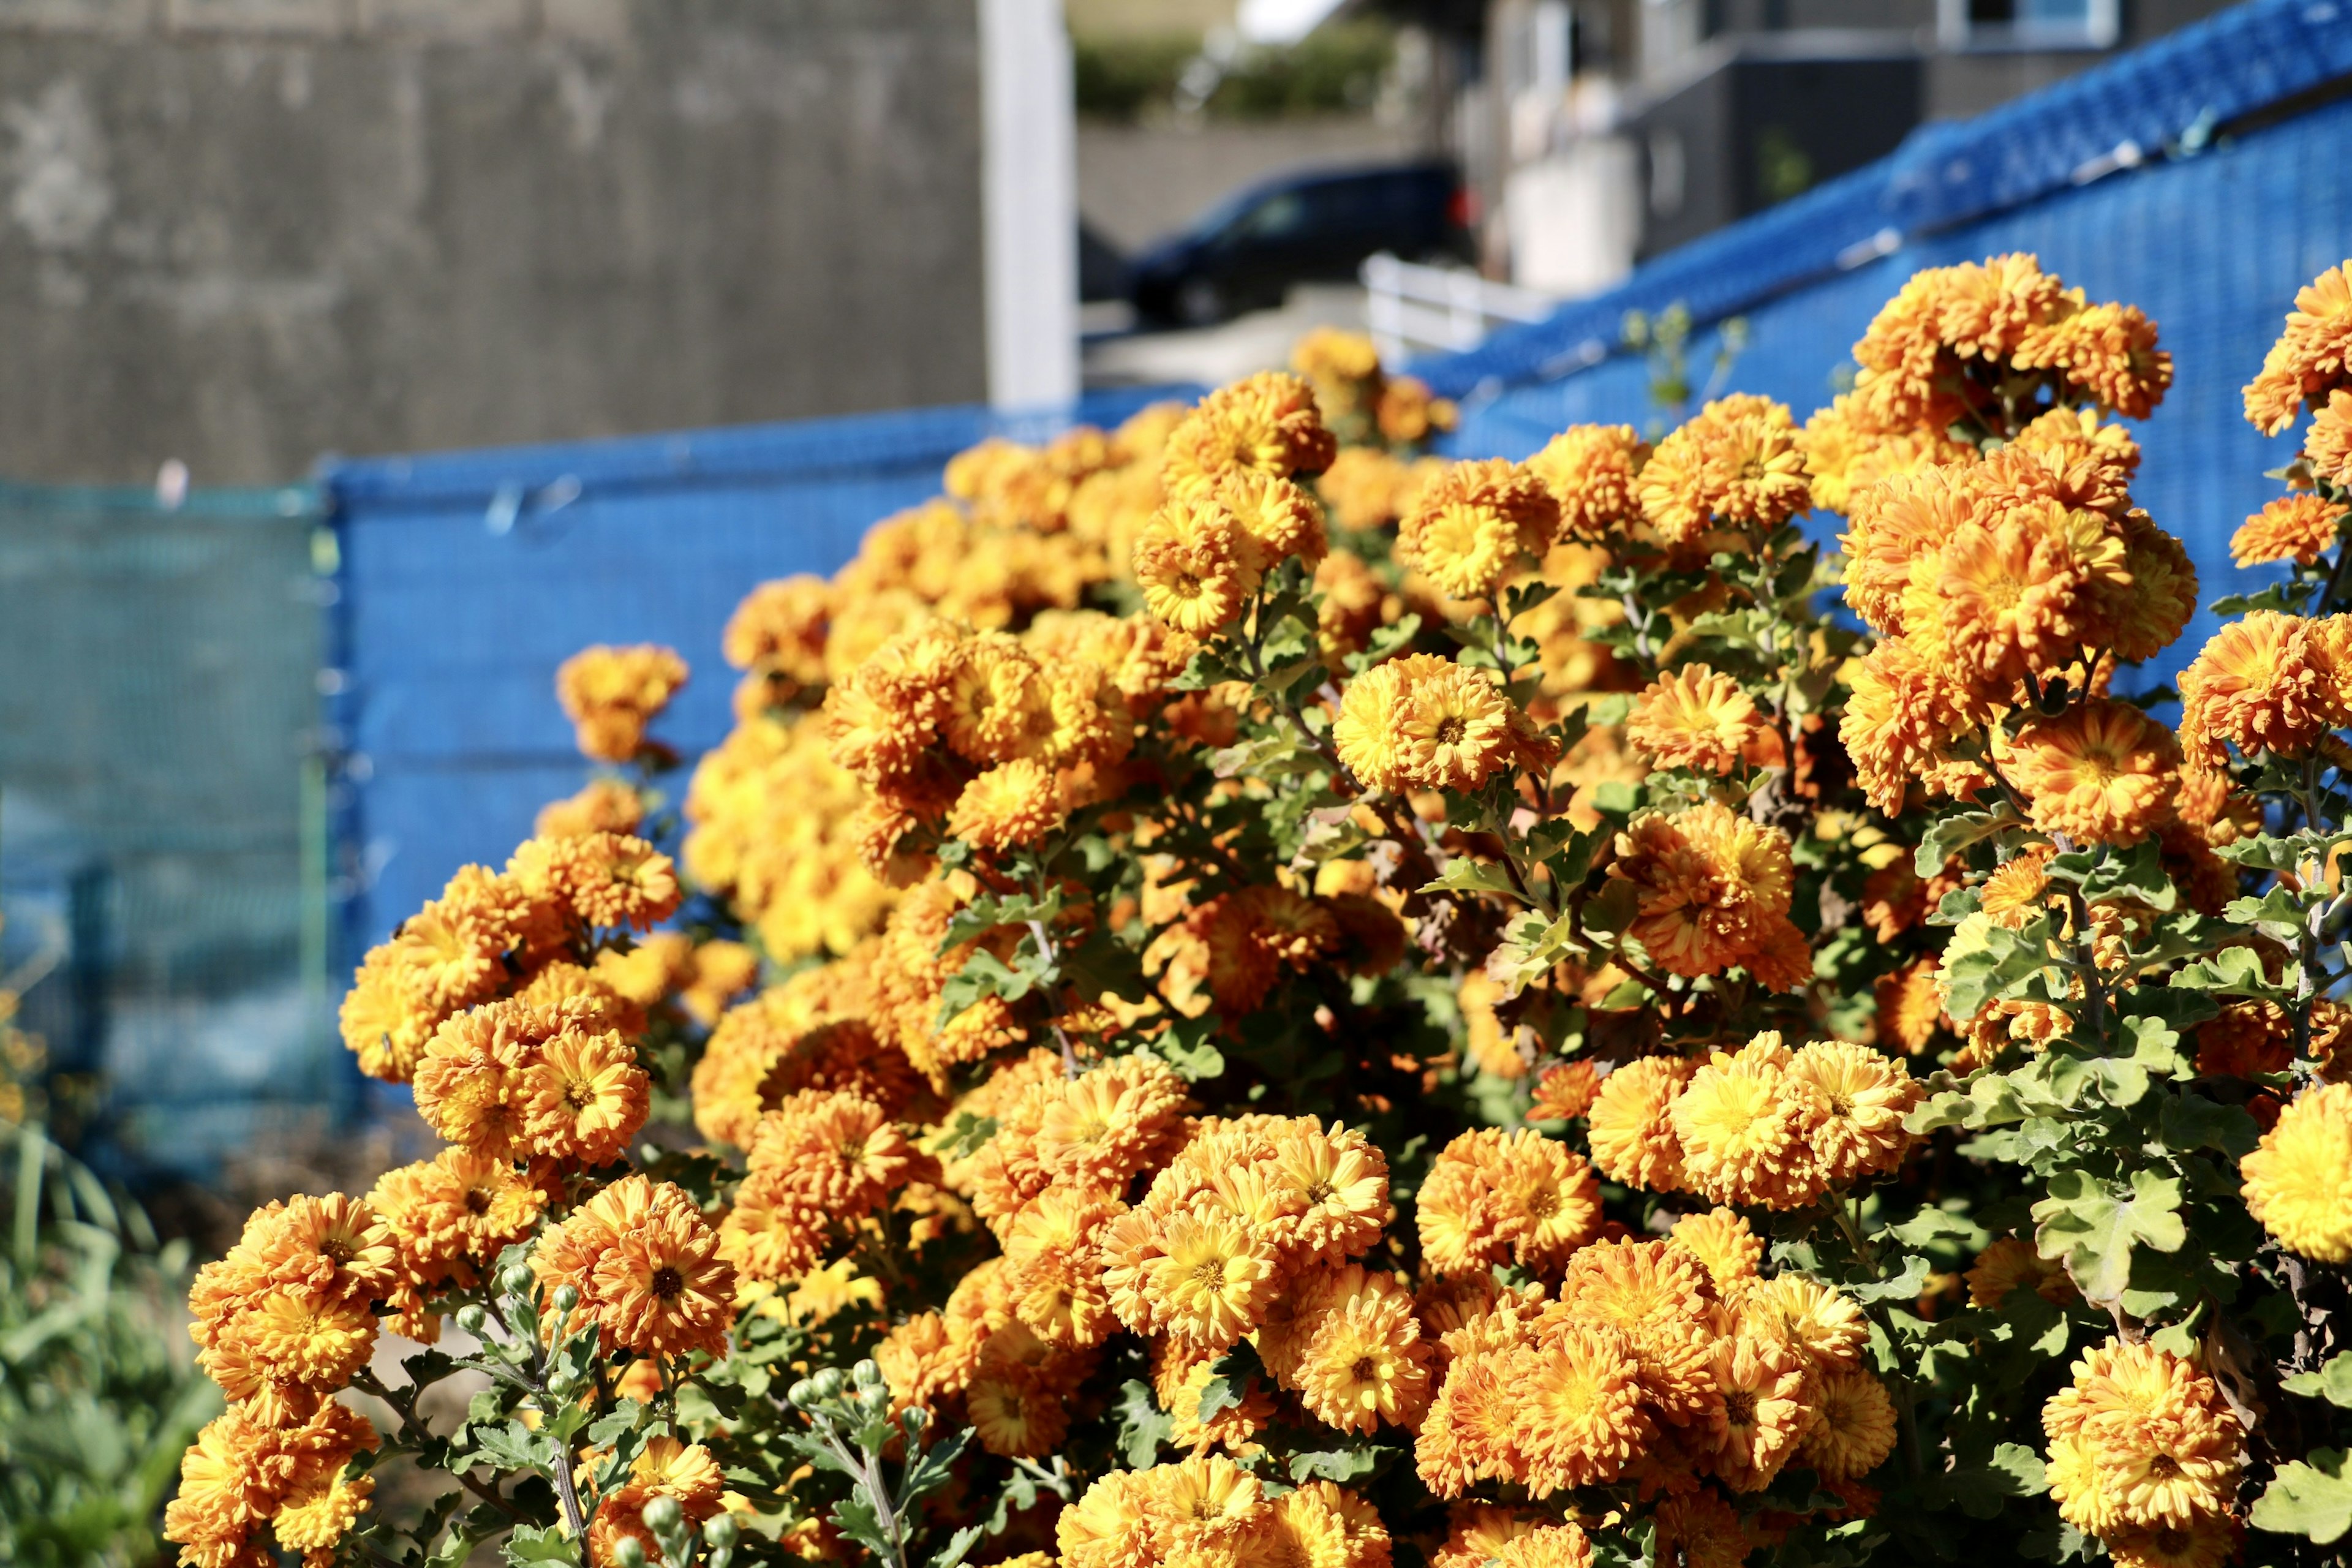
[(988, 435), (1112, 425), (1167, 395), (332, 463), (341, 957), (355, 961), (459, 865), (503, 863), (536, 809), (579, 788), (555, 668), (581, 646), (684, 654), (694, 679), (659, 736), (694, 755), (727, 733), (720, 630), (753, 585), (830, 574)]

